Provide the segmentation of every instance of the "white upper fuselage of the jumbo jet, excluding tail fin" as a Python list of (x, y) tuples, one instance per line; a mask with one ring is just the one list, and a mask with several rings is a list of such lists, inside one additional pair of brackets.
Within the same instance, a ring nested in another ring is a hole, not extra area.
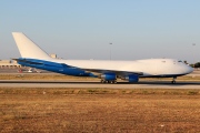
[(66, 63), (86, 70), (110, 70), (124, 72), (142, 72), (142, 76), (184, 75), (193, 71), (192, 68), (174, 59), (147, 59), (136, 61), (109, 60), (58, 60), (48, 61)]

